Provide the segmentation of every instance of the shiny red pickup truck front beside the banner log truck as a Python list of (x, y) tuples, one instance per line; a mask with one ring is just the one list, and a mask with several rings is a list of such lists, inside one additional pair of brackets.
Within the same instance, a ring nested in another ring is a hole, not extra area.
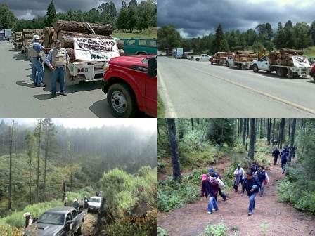
[(157, 56), (110, 59), (104, 68), (102, 89), (115, 117), (135, 117), (138, 111), (158, 117)]

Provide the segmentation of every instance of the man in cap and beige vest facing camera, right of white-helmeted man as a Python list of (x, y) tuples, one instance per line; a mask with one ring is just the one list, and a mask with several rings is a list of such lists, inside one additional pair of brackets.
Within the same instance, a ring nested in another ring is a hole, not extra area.
[(46, 58), (46, 64), (53, 72), (53, 78), (51, 79), (51, 98), (56, 98), (57, 77), (59, 77), (60, 80), (60, 94), (67, 96), (67, 93), (65, 93), (65, 70), (70, 60), (65, 48), (61, 48), (60, 41), (56, 40), (55, 44), (56, 48), (51, 49)]

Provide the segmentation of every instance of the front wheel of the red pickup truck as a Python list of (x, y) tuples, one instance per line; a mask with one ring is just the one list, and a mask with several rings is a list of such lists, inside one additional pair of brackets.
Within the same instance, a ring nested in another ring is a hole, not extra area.
[(115, 117), (128, 118), (136, 114), (136, 98), (126, 84), (113, 84), (108, 89), (108, 106)]

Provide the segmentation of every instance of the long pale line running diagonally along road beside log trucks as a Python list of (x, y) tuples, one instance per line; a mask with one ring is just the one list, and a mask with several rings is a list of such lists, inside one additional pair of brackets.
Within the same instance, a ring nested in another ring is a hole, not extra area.
[(258, 94), (260, 94), (260, 95), (266, 96), (266, 97), (268, 97), (268, 98), (272, 98), (272, 99), (274, 99), (274, 100), (277, 100), (278, 102), (285, 103), (286, 105), (290, 105), (291, 107), (295, 107), (295, 108), (297, 108), (297, 109), (299, 109), (299, 110), (304, 110), (304, 112), (309, 112), (309, 113), (311, 113), (311, 114), (315, 114), (315, 110), (312, 110), (311, 108), (304, 107), (304, 106), (302, 106), (302, 105), (299, 105), (299, 104), (297, 104), (297, 103), (290, 102), (290, 101), (285, 100), (285, 99), (283, 99), (283, 98), (278, 98), (278, 97), (276, 97), (276, 96), (274, 96), (274, 95), (271, 95), (270, 93), (265, 93), (265, 92), (263, 92), (263, 91), (259, 91), (259, 90), (257, 90), (257, 89), (254, 89), (254, 88), (250, 87), (250, 86), (246, 86), (246, 85), (243, 85), (243, 84), (239, 84), (239, 83), (237, 83), (237, 82), (235, 82), (235, 81), (231, 81), (231, 80), (229, 80), (229, 79), (224, 79), (224, 78), (222, 78), (222, 77), (218, 77), (218, 76), (215, 75), (215, 74), (211, 74), (211, 73), (209, 73), (209, 72), (205, 72), (205, 71), (203, 71), (203, 70), (199, 70), (199, 69), (197, 69), (197, 68), (195, 68), (195, 67), (192, 67), (192, 66), (190, 66), (190, 65), (187, 65), (187, 67), (191, 67), (193, 70), (198, 70), (199, 72), (202, 72), (202, 73), (204, 73), (204, 74), (209, 74), (209, 75), (211, 75), (212, 77), (215, 77), (215, 78), (217, 78), (217, 79), (221, 79), (221, 80), (223, 80), (223, 81), (226, 81), (226, 82), (228, 82), (228, 83), (230, 83), (230, 84), (234, 84), (234, 85), (236, 85), (236, 86), (242, 87), (243, 89), (248, 89), (248, 90), (253, 91), (253, 92), (255, 92), (255, 93), (258, 93)]

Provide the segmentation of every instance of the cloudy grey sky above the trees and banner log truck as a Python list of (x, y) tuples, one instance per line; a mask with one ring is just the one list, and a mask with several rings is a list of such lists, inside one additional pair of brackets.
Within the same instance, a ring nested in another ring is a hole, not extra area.
[[(70, 9), (74, 11), (89, 11), (91, 8), (97, 8), (101, 3), (109, 1), (101, 0), (53, 0), (57, 12), (65, 12)], [(122, 5), (122, 0), (113, 1), (117, 8)], [(127, 4), (130, 0), (125, 0)], [(142, 0), (137, 0), (141, 2)], [(37, 15), (46, 15), (47, 7), (51, 0), (0, 0), (0, 4), (8, 4), (15, 16), (20, 19), (33, 19)]]

